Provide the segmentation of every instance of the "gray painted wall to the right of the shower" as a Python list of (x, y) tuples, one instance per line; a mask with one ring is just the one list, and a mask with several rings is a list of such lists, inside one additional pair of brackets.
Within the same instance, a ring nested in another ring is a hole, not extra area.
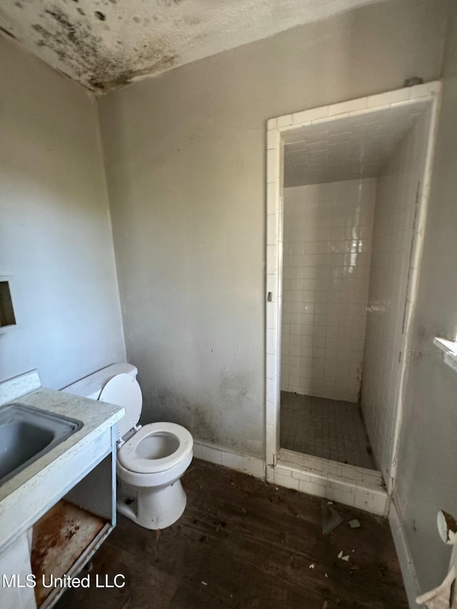
[(431, 185), (406, 413), (394, 500), (421, 590), (441, 583), (451, 547), (436, 513), (457, 517), (457, 376), (433, 346), (457, 331), (457, 4), (451, 3), (443, 98)]

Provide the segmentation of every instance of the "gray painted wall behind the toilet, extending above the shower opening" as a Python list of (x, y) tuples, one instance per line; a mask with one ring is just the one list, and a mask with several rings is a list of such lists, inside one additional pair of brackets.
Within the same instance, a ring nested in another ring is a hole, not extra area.
[(145, 420), (263, 457), (266, 119), (438, 78), (446, 8), (371, 4), (100, 99)]

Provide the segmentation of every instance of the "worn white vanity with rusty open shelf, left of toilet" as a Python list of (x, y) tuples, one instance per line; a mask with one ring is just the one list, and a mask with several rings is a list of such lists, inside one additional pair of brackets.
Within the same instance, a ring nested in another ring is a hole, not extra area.
[(116, 525), (124, 408), (41, 388), (36, 371), (0, 383), (0, 406), (13, 402), (82, 423), (0, 485), (0, 607), (46, 609), (66, 589), (50, 575), (76, 575)]

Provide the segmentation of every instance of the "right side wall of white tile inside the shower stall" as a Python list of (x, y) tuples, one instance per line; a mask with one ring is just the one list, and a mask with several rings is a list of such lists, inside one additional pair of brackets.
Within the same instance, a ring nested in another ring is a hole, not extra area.
[(391, 468), (411, 241), (429, 120), (430, 111), (423, 111), (378, 176), (361, 406), (385, 480)]

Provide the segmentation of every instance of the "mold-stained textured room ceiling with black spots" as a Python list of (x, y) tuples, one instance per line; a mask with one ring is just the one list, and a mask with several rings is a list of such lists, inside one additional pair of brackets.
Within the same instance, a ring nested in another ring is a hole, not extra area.
[(1, 0), (0, 29), (106, 91), (371, 1)]

